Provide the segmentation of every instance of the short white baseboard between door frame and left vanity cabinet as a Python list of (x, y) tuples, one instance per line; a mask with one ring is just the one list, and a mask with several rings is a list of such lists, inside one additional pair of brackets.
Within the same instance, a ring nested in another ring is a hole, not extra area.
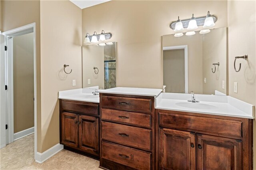
[(36, 152), (35, 160), (37, 163), (43, 163), (48, 160), (50, 157), (54, 156), (56, 153), (60, 152), (64, 146), (62, 144), (56, 144), (52, 146), (50, 149), (44, 151), (43, 153)]

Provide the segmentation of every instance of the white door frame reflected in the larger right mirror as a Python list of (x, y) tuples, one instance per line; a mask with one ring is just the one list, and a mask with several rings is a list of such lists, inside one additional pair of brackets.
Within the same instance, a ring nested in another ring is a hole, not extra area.
[[(188, 45), (177, 45), (163, 47), (163, 51), (170, 49), (184, 49), (184, 60), (185, 60), (185, 93), (188, 93)], [(164, 58), (164, 55), (163, 55)]]

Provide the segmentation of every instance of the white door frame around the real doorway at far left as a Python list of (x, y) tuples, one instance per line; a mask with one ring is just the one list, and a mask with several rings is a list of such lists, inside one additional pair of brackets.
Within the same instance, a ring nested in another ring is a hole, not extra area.
[[(14, 113), (13, 113), (13, 37), (21, 36), (24, 34), (34, 33), (34, 156), (37, 152), (37, 84), (36, 84), (36, 23), (28, 24), (19, 28), (15, 28), (2, 34), (5, 36), (6, 51), (6, 91), (7, 101), (7, 119), (8, 119), (8, 143), (14, 141)], [(7, 124), (6, 123), (6, 124)]]

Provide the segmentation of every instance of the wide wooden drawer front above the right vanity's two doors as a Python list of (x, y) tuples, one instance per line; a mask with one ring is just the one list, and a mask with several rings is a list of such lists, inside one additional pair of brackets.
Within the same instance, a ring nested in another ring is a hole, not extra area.
[(242, 121), (159, 112), (159, 125), (242, 137)]

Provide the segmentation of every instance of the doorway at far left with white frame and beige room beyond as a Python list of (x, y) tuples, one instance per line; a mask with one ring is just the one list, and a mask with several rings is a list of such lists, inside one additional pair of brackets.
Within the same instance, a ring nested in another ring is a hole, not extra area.
[[(4, 76), (5, 81), (1, 81), (1, 87), (4, 83), (5, 93), (1, 90), (0, 100), (5, 101), (5, 108), (1, 108), (1, 118), (5, 114), (7, 129), (1, 137), (6, 136), (6, 145), (35, 133), (36, 156), (36, 23), (3, 32), (2, 35), (5, 45), (5, 73), (1, 72), (0, 79)], [(1, 132), (2, 128), (1, 122)], [(4, 145), (1, 143), (1, 146)]]

